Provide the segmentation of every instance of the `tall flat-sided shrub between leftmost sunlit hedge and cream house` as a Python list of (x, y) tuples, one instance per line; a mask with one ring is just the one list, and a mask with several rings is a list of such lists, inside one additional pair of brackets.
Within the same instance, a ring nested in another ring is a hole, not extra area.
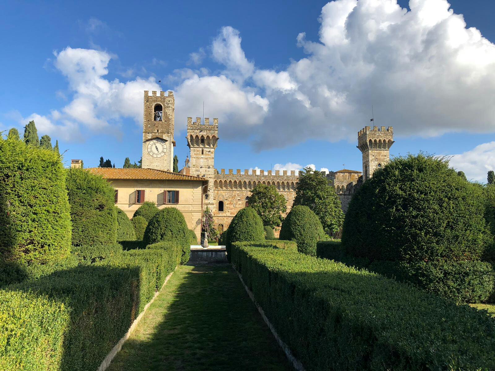
[(72, 245), (109, 245), (116, 241), (115, 191), (99, 175), (70, 169), (67, 177)]

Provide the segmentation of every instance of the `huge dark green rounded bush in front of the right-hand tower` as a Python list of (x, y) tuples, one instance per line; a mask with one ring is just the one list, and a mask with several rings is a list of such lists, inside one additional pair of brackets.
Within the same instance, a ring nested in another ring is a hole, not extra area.
[(482, 187), (445, 159), (398, 157), (353, 195), (342, 243), (371, 260), (479, 260), (488, 236), (484, 206)]

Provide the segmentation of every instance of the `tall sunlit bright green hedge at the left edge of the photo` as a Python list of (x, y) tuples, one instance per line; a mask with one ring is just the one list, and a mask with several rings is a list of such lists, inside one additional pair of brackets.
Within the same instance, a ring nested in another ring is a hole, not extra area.
[(0, 136), (0, 260), (49, 263), (70, 253), (66, 172), (51, 150)]

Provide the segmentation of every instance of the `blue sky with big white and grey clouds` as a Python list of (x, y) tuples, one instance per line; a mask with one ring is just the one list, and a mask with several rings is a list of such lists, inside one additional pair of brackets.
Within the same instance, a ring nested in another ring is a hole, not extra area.
[(204, 102), (217, 169), (362, 170), (357, 132), (374, 117), (394, 127), (392, 156), (450, 156), (486, 182), (494, 12), (482, 0), (2, 2), (0, 131), (34, 120), (66, 165), (122, 167), (141, 158), (143, 91), (161, 85), (179, 168)]

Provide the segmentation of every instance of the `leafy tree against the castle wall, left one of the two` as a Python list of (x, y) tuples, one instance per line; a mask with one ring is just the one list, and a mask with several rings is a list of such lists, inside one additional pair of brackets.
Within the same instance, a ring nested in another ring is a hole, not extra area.
[(258, 183), (252, 189), (247, 202), (261, 217), (263, 226), (275, 228), (282, 224), (282, 214), (287, 211), (287, 200), (277, 192), (275, 185)]

